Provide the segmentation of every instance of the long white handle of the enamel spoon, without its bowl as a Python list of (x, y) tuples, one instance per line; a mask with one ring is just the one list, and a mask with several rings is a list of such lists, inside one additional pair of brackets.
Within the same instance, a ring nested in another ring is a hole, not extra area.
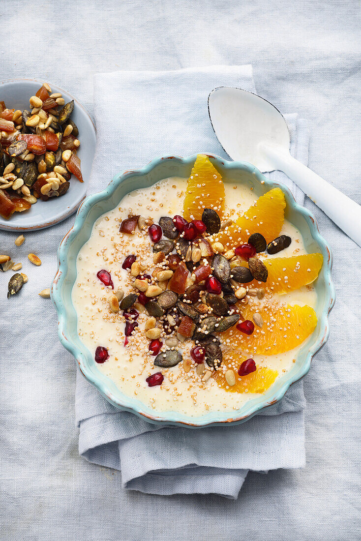
[(275, 169), (284, 171), (350, 239), (361, 246), (361, 206), (321, 179), (311, 169), (295, 160), (289, 153), (262, 148), (272, 160)]

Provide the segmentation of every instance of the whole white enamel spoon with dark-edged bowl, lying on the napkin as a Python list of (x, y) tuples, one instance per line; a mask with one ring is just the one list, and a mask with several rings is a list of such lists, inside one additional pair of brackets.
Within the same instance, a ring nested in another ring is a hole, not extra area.
[(284, 171), (331, 220), (361, 246), (361, 207), (290, 155), (290, 133), (278, 109), (240, 88), (214, 88), (208, 112), (218, 141), (237, 161)]

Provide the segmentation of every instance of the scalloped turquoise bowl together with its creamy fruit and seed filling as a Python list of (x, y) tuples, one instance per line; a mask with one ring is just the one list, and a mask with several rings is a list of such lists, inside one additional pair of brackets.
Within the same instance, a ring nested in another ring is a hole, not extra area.
[(58, 250), (59, 336), (116, 407), (241, 423), (328, 335), (331, 255), (290, 191), (245, 162), (165, 157), (116, 176)]

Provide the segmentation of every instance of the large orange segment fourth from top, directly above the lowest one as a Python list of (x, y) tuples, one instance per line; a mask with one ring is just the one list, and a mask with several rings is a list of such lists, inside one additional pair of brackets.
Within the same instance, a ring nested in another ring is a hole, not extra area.
[[(253, 321), (256, 307), (240, 305), (245, 319)], [(264, 306), (259, 310), (262, 328), (254, 326), (254, 332), (246, 335), (234, 326), (222, 333), (226, 346), (241, 348), (248, 354), (273, 355), (285, 353), (302, 344), (317, 325), (317, 316), (310, 306)]]

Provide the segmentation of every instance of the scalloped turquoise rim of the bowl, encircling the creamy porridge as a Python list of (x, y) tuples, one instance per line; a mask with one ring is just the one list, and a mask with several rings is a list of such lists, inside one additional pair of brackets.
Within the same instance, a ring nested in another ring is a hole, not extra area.
[[(257, 397), (256, 401), (250, 400), (242, 405), (239, 411), (235, 411), (233, 417), (229, 416), (229, 412), (210, 412), (202, 415), (199, 418), (193, 418), (185, 414), (178, 412), (155, 412), (152, 408), (142, 404), (139, 400), (128, 397), (123, 394), (111, 381), (107, 378), (106, 375), (102, 374), (96, 368), (93, 355), (90, 351), (82, 344), (77, 335), (76, 325), (71, 325), (71, 317), (76, 320), (76, 312), (71, 302), (71, 290), (73, 289), (75, 278), (76, 278), (76, 258), (77, 254), (83, 246), (84, 242), (89, 239), (91, 229), (93, 228), (95, 220), (101, 216), (103, 213), (114, 208), (117, 203), (114, 204), (114, 201), (111, 201), (111, 197), (114, 195), (115, 191), (120, 187), (122, 183), (125, 183), (127, 192), (144, 187), (139, 186), (142, 183), (142, 180), (145, 181), (147, 175), (151, 175), (153, 172), (156, 172), (157, 168), (162, 168), (166, 166), (169, 162), (169, 165), (173, 167), (174, 164), (178, 164), (180, 168), (187, 166), (189, 171), (191, 170), (193, 163), (196, 159), (196, 154), (182, 158), (179, 156), (164, 156), (158, 157), (150, 161), (145, 167), (140, 169), (124, 171), (124, 173), (115, 175), (111, 180), (106, 189), (102, 192), (89, 195), (79, 207), (75, 222), (73, 227), (69, 232), (64, 236), (63, 240), (60, 243), (58, 248), (58, 269), (55, 275), (54, 281), (51, 287), (51, 299), (55, 305), (57, 314), (58, 314), (58, 335), (63, 346), (68, 349), (68, 351), (73, 354), (75, 357), (80, 371), (84, 377), (93, 384), (97, 390), (115, 407), (119, 408), (122, 411), (128, 411), (135, 413), (141, 419), (149, 421), (149, 423), (155, 424), (168, 424), (168, 425), (179, 425), (183, 427), (191, 428), (200, 428), (202, 426), (214, 426), (214, 425), (229, 425), (229, 424), (240, 424), (244, 423), (246, 420), (253, 417), (253, 415), (259, 413), (262, 410), (265, 410), (266, 407), (269, 407), (279, 400), (281, 400), (288, 388), (296, 381), (299, 381), (310, 370), (312, 357), (319, 349), (325, 344), (329, 336), (329, 321), (328, 314), (334, 304), (335, 291), (331, 278), (331, 267), (332, 267), (332, 255), (331, 249), (327, 246), (326, 241), (320, 235), (318, 225), (314, 216), (304, 207), (301, 207), (291, 193), (291, 191), (279, 182), (267, 179), (262, 173), (254, 167), (252, 164), (247, 162), (234, 162), (221, 159), (219, 156), (214, 154), (205, 153), (209, 158), (211, 158), (215, 167), (230, 171), (246, 171), (248, 174), (252, 175), (252, 182), (254, 185), (258, 186), (259, 192), (264, 193), (269, 189), (274, 187), (280, 187), (284, 194), (287, 204), (287, 209), (289, 213), (299, 213), (303, 216), (306, 226), (309, 227), (309, 234), (311, 239), (316, 242), (318, 249), (324, 256), (324, 264), (321, 268), (319, 278), (324, 281), (324, 302), (323, 308), (318, 316), (318, 324), (311, 335), (309, 340), (306, 342), (306, 354), (303, 363), (298, 367), (296, 374), (292, 375), (290, 372), (290, 377), (285, 380), (280, 380), (280, 384), (277, 387), (277, 391), (272, 391), (273, 387), (270, 387), (264, 395)], [(167, 176), (185, 176), (172, 175), (168, 174)], [(159, 179), (166, 178), (166, 175), (160, 176)], [(132, 180), (133, 179), (133, 180)], [(159, 180), (156, 179), (156, 180)], [(138, 180), (138, 182), (135, 182)], [(153, 182), (145, 184), (145, 186), (151, 186)], [(128, 189), (129, 187), (129, 189)], [(255, 190), (257, 192), (257, 190)], [(117, 200), (118, 202), (120, 200)], [(96, 207), (97, 206), (97, 207)], [(96, 207), (96, 208), (95, 208)], [(97, 216), (93, 220), (87, 220), (89, 213), (92, 210), (96, 210)], [(292, 220), (291, 220), (292, 222)], [(78, 248), (75, 247), (75, 243), (78, 235), (83, 235), (84, 241), (81, 246)], [(303, 235), (304, 236), (304, 235)], [(309, 341), (313, 335), (318, 330), (318, 340), (314, 340), (313, 343), (309, 344)], [(301, 348), (300, 351), (303, 351), (305, 348)]]

